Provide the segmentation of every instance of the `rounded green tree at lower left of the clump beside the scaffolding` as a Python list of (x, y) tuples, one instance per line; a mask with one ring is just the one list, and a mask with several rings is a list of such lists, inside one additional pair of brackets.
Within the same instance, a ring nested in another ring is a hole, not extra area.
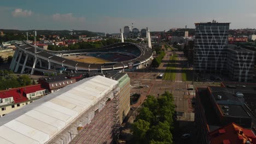
[(135, 136), (137, 140), (144, 141), (149, 130), (149, 125), (149, 122), (146, 122), (142, 119), (138, 119), (137, 122), (132, 124), (133, 136)]

